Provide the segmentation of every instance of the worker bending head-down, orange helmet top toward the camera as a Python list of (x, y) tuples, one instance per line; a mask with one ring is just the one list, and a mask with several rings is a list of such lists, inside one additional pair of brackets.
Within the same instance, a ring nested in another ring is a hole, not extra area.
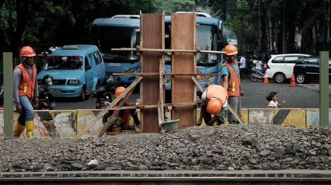
[[(201, 113), (196, 125), (200, 126), (204, 118), (207, 126), (211, 126), (219, 117), (223, 117), (223, 112), (228, 106), (228, 92), (220, 85), (210, 85), (201, 96)], [(211, 118), (211, 115), (214, 115)]]

